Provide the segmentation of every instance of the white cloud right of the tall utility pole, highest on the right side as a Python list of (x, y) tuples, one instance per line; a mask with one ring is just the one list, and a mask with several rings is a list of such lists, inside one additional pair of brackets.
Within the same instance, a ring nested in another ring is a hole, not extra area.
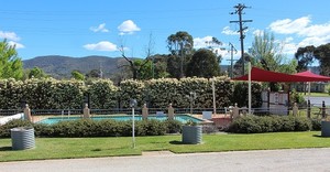
[(310, 17), (302, 17), (296, 20), (284, 19), (271, 23), (270, 29), (273, 32), (282, 34), (299, 33), (310, 23)]

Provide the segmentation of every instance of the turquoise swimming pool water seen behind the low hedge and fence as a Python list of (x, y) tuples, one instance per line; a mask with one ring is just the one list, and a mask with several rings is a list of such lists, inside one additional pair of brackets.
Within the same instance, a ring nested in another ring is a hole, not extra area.
[[(68, 121), (68, 120), (78, 120), (81, 119), (81, 117), (50, 117), (46, 119), (43, 119), (41, 121), (38, 121), (38, 123), (46, 123), (46, 125), (53, 125), (53, 123), (57, 123), (59, 121)], [(127, 121), (127, 120), (132, 120), (132, 116), (127, 116), (127, 115), (108, 115), (108, 116), (94, 116), (90, 119), (92, 120), (105, 120), (105, 119), (113, 119), (113, 120), (118, 120), (118, 121)], [(135, 120), (142, 120), (142, 116), (141, 115), (136, 115), (134, 117)], [(166, 120), (167, 116), (148, 116), (147, 119), (156, 119), (156, 120)], [(199, 118), (195, 118), (193, 116), (189, 115), (175, 115), (174, 116), (175, 120), (178, 120), (183, 123), (186, 123), (188, 120), (193, 120), (194, 122), (201, 122), (202, 119)]]

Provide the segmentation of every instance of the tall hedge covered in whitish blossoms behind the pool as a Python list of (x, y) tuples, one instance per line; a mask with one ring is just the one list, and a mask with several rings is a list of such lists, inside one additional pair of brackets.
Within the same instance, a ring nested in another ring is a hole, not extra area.
[[(248, 84), (231, 82), (227, 77), (213, 80), (217, 107), (228, 107), (234, 103), (248, 104)], [(253, 83), (252, 106), (261, 106), (261, 85)], [(189, 107), (189, 95), (196, 93), (196, 108), (212, 107), (212, 79), (207, 78), (161, 78), (151, 80), (123, 80), (114, 86), (110, 79), (80, 80), (2, 79), (0, 80), (0, 109), (18, 109), (28, 103), (32, 109), (80, 109), (90, 96), (91, 108), (128, 108), (129, 100), (135, 98), (139, 106), (144, 103), (152, 108), (164, 108), (169, 103), (176, 108)], [(242, 101), (243, 100), (243, 101)]]

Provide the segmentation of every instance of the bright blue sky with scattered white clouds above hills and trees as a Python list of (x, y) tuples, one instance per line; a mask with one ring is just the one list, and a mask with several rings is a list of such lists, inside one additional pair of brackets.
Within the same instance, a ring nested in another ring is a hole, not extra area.
[[(206, 47), (212, 36), (223, 44), (221, 64), (230, 63), (230, 46), (241, 44), (234, 6), (241, 3), (245, 22), (244, 50), (255, 34), (273, 33), (289, 60), (298, 47), (330, 42), (330, 1), (300, 0), (0, 0), (0, 40), (15, 45), (19, 56), (146, 57), (168, 54), (166, 39), (178, 31), (194, 37), (194, 47)], [(151, 44), (150, 44), (151, 43)]]

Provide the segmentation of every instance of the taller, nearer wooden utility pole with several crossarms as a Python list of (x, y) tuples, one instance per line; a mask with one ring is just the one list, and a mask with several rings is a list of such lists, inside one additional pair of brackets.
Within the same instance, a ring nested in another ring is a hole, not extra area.
[(239, 21), (230, 21), (230, 23), (239, 23), (240, 24), (240, 31), (239, 32), (240, 32), (240, 41), (241, 41), (241, 58), (242, 58), (242, 62), (243, 62), (243, 64), (242, 64), (242, 75), (244, 75), (245, 60), (244, 60), (244, 41), (243, 40), (245, 37), (244, 30), (246, 30), (248, 26), (243, 28), (243, 23), (244, 22), (252, 22), (252, 20), (242, 20), (242, 14), (244, 14), (244, 13), (242, 13), (242, 11), (245, 8), (248, 8), (245, 4), (239, 3), (239, 4), (234, 6), (233, 8), (235, 8), (237, 10), (235, 10), (235, 12), (231, 12), (230, 14), (239, 14)]

